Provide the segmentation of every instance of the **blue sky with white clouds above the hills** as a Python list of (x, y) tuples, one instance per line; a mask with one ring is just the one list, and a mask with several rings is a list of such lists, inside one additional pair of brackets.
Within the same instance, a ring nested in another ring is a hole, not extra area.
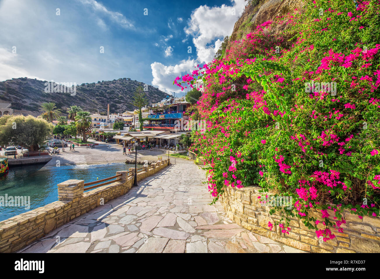
[(0, 0), (0, 81), (29, 77), (82, 84), (130, 77), (181, 95), (174, 78), (212, 60), (244, 5)]

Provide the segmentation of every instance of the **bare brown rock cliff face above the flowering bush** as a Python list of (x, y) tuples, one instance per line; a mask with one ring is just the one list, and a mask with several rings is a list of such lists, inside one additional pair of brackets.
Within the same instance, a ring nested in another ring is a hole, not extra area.
[(302, 12), (303, 6), (304, 2), (301, 0), (261, 0), (257, 4), (249, 3), (234, 25), (227, 49), (230, 48), (231, 42), (243, 38), (255, 30), (257, 25), (293, 12), (296, 8)]

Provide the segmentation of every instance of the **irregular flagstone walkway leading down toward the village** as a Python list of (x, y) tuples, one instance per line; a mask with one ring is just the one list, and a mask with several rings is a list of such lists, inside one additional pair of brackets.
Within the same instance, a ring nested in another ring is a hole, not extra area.
[(139, 187), (19, 252), (301, 252), (233, 223), (195, 164), (171, 165)]

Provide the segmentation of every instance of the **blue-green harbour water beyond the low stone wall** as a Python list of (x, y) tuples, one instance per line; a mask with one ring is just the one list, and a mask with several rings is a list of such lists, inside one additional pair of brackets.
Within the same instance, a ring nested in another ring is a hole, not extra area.
[[(25, 206), (0, 206), (0, 221), (58, 200), (57, 184), (68, 179), (84, 183), (111, 177), (119, 170), (135, 165), (125, 163), (104, 165), (44, 167), (44, 164), (9, 166), (8, 175), (0, 178), (0, 198), (30, 196), (30, 209)], [(9, 199), (8, 199), (9, 200)]]

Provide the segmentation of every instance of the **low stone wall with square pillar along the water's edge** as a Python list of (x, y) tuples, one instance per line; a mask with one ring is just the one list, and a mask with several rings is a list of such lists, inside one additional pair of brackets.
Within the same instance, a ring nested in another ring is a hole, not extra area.
[[(170, 164), (166, 159), (137, 173), (144, 179)], [(84, 192), (83, 180), (67, 180), (58, 184), (59, 200), (0, 222), (0, 252), (16, 252), (72, 219), (127, 193), (133, 186), (133, 175), (119, 171), (121, 181)]]

